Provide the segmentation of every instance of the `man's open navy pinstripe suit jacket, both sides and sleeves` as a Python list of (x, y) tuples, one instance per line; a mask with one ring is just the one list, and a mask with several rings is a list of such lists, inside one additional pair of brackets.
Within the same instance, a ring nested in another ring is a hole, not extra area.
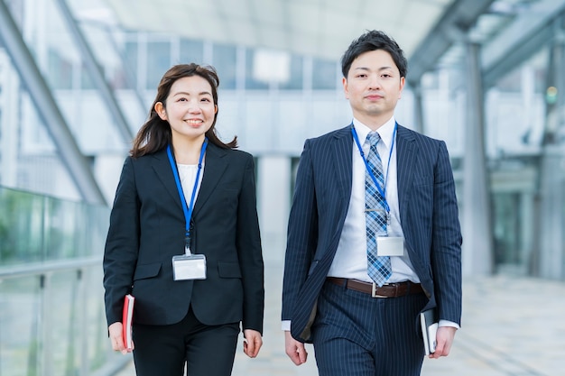
[[(438, 307), (440, 318), (460, 324), (461, 234), (445, 142), (399, 125), (396, 145), (405, 245), (428, 297), (422, 308)], [(288, 226), (282, 319), (292, 320), (292, 336), (303, 342), (312, 341), (313, 317), (324, 314), (320, 312), (325, 309), (319, 302), (320, 291), (347, 214), (352, 148), (353, 139), (346, 127), (307, 140), (301, 154)], [(364, 308), (351, 309), (352, 315), (358, 315), (355, 310)], [(405, 330), (416, 332), (416, 315)], [(388, 342), (390, 338), (382, 340)]]

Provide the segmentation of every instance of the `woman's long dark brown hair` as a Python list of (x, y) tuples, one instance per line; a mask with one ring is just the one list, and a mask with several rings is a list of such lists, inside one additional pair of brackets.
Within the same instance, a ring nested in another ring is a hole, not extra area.
[[(171, 143), (172, 133), (171, 125), (166, 120), (162, 120), (161, 117), (155, 111), (155, 104), (161, 102), (163, 105), (167, 101), (167, 97), (171, 93), (172, 84), (175, 83), (180, 78), (199, 76), (204, 78), (212, 87), (212, 97), (214, 99), (214, 105), (218, 108), (218, 85), (219, 78), (216, 69), (210, 66), (199, 66), (198, 64), (179, 64), (171, 67), (167, 70), (159, 87), (157, 87), (157, 96), (153, 101), (151, 106), (151, 111), (149, 112), (149, 119), (140, 128), (139, 132), (134, 138), (134, 145), (130, 154), (134, 158), (144, 156), (145, 154), (151, 154), (155, 151), (161, 151), (166, 148), (167, 145)], [(237, 136), (231, 142), (224, 143), (216, 134), (216, 120), (218, 119), (218, 111), (214, 115), (214, 121), (212, 126), (206, 132), (208, 137), (208, 142), (211, 142), (223, 149), (233, 149), (237, 147)]]

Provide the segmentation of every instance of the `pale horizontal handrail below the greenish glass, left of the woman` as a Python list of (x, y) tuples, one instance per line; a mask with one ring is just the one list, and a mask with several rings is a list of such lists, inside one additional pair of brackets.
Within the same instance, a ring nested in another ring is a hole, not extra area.
[(102, 257), (95, 256), (70, 260), (34, 262), (31, 265), (17, 264), (11, 266), (0, 266), (0, 280), (46, 274), (55, 271), (78, 270), (97, 264), (101, 265), (101, 263)]

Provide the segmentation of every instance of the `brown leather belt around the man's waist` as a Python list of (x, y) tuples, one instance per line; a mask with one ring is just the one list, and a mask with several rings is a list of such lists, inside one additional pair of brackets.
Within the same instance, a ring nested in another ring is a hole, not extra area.
[(328, 277), (329, 282), (345, 286), (347, 289), (365, 292), (373, 298), (397, 298), (404, 295), (421, 294), (423, 289), (420, 283), (414, 283), (410, 280), (404, 282), (387, 283), (382, 287), (378, 287), (375, 283), (364, 282), (362, 280), (347, 280), (345, 278)]

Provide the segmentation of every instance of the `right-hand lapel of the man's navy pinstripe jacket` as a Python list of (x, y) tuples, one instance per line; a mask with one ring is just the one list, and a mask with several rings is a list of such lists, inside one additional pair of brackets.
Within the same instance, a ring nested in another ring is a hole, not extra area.
[(408, 216), (408, 200), (412, 187), (414, 160), (416, 158), (416, 145), (412, 133), (398, 125), (396, 133), (396, 173), (398, 185), (398, 206), (400, 218)]

